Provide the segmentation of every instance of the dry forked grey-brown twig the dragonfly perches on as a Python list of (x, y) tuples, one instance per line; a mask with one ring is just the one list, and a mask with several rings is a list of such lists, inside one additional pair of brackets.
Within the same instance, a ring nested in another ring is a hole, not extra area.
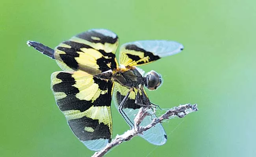
[(139, 126), (141, 124), (142, 120), (149, 114), (149, 113), (147, 113), (147, 110), (148, 110), (148, 108), (141, 108), (134, 119), (134, 128), (126, 131), (122, 135), (117, 135), (115, 137), (115, 139), (113, 139), (112, 142), (110, 142), (102, 150), (95, 152), (92, 157), (102, 157), (109, 150), (111, 150), (111, 148), (113, 148), (114, 146), (117, 146), (124, 141), (130, 141), (133, 137), (142, 134), (143, 131), (146, 131), (146, 130), (152, 128), (153, 126), (162, 122), (165, 119), (170, 119), (170, 118), (173, 118), (176, 116), (179, 118), (183, 118), (188, 113), (197, 111), (198, 109), (197, 109), (197, 104), (180, 105), (178, 107), (174, 107), (174, 108), (168, 110), (165, 114), (161, 115), (159, 118), (153, 119), (152, 122), (150, 124), (148, 124), (147, 126)]

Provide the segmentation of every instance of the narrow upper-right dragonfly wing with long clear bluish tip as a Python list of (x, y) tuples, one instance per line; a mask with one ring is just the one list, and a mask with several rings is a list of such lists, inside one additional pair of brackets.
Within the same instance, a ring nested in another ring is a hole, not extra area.
[(167, 40), (142, 40), (123, 44), (119, 63), (124, 66), (139, 66), (182, 51), (182, 44)]

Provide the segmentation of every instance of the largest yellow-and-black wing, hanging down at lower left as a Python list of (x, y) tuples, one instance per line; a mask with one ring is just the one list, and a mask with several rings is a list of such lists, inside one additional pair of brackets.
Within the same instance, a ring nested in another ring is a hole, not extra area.
[(113, 82), (82, 70), (52, 73), (51, 88), (57, 105), (76, 137), (90, 150), (111, 141), (111, 92)]

